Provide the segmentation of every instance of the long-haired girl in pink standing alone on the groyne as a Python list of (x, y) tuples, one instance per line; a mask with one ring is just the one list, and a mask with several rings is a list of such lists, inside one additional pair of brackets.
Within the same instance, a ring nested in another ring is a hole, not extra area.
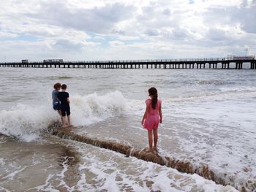
[(153, 150), (153, 134), (154, 134), (154, 149), (157, 150), (157, 140), (158, 140), (158, 124), (162, 123), (162, 101), (157, 99), (157, 89), (148, 89), (148, 96), (150, 99), (145, 101), (146, 111), (141, 120), (143, 128), (148, 130), (148, 152), (154, 152)]

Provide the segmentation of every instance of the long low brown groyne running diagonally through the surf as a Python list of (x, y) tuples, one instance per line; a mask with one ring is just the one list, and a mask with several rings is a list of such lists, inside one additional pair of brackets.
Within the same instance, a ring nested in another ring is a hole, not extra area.
[(138, 149), (127, 144), (120, 142), (97, 139), (93, 137), (88, 137), (86, 135), (80, 135), (75, 133), (75, 128), (58, 128), (59, 124), (55, 123), (50, 126), (50, 132), (57, 137), (62, 139), (71, 139), (77, 142), (83, 142), (89, 145), (94, 145), (96, 147), (102, 147), (108, 150), (113, 150), (118, 153), (122, 153), (127, 157), (133, 156), (139, 158), (143, 161), (150, 161), (155, 164), (162, 166), (171, 167), (177, 169), (179, 172), (185, 172), (188, 174), (198, 174), (208, 180), (213, 180), (217, 184), (221, 185), (232, 185), (239, 191), (255, 191), (256, 181), (244, 180), (236, 183), (234, 177), (227, 177), (227, 174), (219, 174), (211, 169), (206, 164), (195, 164), (187, 160), (180, 160), (173, 157), (167, 157), (161, 155), (160, 153), (148, 153), (146, 149)]

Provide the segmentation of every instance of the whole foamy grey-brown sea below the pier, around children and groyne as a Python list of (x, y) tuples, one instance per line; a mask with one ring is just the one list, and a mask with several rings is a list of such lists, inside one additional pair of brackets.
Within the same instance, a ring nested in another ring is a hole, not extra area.
[[(0, 80), (0, 191), (256, 190), (256, 70), (1, 68)], [(206, 165), (227, 185), (50, 135), (56, 82), (67, 84), (77, 134), (140, 149), (156, 87), (159, 154)]]

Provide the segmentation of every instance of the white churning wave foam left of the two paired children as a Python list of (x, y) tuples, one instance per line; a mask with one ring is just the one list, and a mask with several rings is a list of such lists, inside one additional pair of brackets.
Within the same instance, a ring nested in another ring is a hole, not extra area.
[(0, 132), (30, 142), (39, 137), (39, 130), (56, 119), (56, 113), (47, 106), (17, 104), (12, 110), (0, 112)]

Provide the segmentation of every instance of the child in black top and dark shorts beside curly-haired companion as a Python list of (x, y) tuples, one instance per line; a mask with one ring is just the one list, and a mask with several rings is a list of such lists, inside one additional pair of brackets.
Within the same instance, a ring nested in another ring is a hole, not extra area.
[(62, 121), (62, 126), (66, 127), (66, 115), (67, 115), (67, 121), (68, 125), (71, 126), (70, 124), (70, 107), (69, 107), (69, 93), (66, 92), (67, 90), (67, 85), (63, 84), (61, 85), (61, 92), (57, 94), (57, 97), (59, 101), (61, 102), (61, 121)]

